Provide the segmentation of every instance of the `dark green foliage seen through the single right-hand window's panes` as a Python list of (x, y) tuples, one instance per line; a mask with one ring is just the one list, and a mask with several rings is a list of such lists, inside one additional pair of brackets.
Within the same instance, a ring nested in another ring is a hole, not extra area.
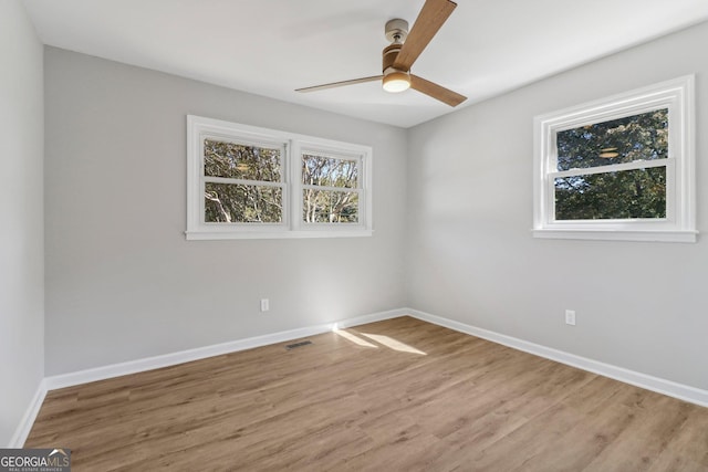
[(666, 167), (597, 168), (668, 157), (668, 109), (662, 108), (556, 133), (556, 220), (666, 218)]

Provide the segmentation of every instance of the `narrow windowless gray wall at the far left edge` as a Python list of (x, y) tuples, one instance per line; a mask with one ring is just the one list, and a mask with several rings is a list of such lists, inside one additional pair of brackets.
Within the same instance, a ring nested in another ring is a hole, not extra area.
[(44, 375), (42, 44), (18, 0), (0, 1), (0, 445)]

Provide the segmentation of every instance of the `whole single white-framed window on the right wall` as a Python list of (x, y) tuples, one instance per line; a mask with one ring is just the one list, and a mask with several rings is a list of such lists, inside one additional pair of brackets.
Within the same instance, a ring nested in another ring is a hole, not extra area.
[(534, 237), (696, 241), (693, 76), (534, 128)]

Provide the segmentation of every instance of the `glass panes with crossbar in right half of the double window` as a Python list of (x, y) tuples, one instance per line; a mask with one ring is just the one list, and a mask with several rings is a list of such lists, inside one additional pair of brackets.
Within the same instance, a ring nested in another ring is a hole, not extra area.
[(302, 219), (305, 223), (358, 223), (361, 160), (302, 153)]

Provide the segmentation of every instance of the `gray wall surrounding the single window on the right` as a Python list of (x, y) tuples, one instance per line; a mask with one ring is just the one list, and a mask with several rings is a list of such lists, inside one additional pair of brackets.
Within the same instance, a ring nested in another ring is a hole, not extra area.
[[(413, 307), (708, 389), (708, 24), (410, 130)], [(533, 239), (534, 115), (697, 74), (696, 244)], [(575, 310), (577, 325), (564, 324)]]

